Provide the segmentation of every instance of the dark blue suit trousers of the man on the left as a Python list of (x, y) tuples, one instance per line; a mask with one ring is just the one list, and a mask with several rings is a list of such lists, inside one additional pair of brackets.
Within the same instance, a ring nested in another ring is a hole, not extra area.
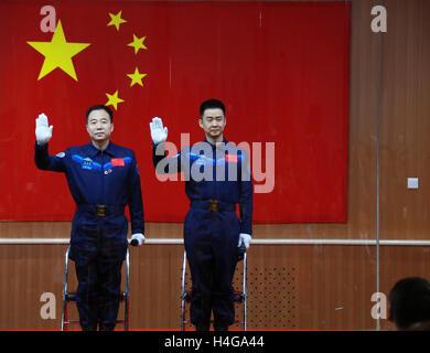
[(71, 258), (78, 280), (76, 304), (82, 327), (116, 325), (127, 231), (123, 215), (97, 218), (75, 214)]

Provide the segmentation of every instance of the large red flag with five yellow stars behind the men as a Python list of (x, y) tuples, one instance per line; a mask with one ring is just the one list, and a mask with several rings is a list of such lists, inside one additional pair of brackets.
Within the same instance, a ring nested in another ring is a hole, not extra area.
[(86, 108), (109, 103), (112, 141), (137, 153), (146, 221), (183, 222), (184, 184), (155, 178), (149, 121), (162, 117), (180, 148), (181, 133), (203, 139), (200, 104), (219, 98), (226, 138), (260, 142), (252, 170), (273, 173), (256, 180), (256, 223), (346, 221), (350, 1), (57, 0), (55, 34), (45, 4), (0, 3), (0, 220), (72, 220), (65, 178), (34, 165), (35, 118), (54, 126), (55, 154), (87, 143)]

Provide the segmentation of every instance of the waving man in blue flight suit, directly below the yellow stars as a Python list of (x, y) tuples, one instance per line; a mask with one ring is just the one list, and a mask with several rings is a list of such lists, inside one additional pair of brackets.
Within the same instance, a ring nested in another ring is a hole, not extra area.
[(63, 172), (76, 203), (71, 254), (78, 280), (77, 309), (85, 331), (111, 331), (117, 323), (121, 266), (127, 253), (128, 204), (132, 245), (144, 242), (143, 204), (135, 152), (114, 145), (112, 110), (93, 106), (86, 113), (90, 143), (50, 156), (52, 126), (36, 119), (34, 160), (39, 169)]

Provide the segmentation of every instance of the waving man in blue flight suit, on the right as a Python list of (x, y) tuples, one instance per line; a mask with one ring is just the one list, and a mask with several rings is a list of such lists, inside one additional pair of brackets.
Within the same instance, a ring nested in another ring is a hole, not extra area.
[[(226, 331), (234, 322), (233, 277), (238, 246), (249, 247), (252, 222), (252, 181), (249, 158), (223, 136), (224, 104), (204, 101), (200, 108), (203, 142), (165, 156), (168, 128), (160, 118), (150, 122), (153, 163), (158, 173), (184, 172), (191, 201), (184, 223), (184, 244), (192, 278), (190, 315), (198, 331)], [(239, 204), (240, 220), (236, 214)]]

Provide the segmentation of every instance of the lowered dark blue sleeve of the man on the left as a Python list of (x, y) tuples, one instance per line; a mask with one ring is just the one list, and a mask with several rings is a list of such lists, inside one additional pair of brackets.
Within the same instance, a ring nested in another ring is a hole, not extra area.
[(131, 234), (144, 234), (142, 189), (140, 184), (139, 168), (135, 154), (132, 157), (129, 178), (130, 196), (128, 202), (128, 208), (130, 212), (131, 220)]

